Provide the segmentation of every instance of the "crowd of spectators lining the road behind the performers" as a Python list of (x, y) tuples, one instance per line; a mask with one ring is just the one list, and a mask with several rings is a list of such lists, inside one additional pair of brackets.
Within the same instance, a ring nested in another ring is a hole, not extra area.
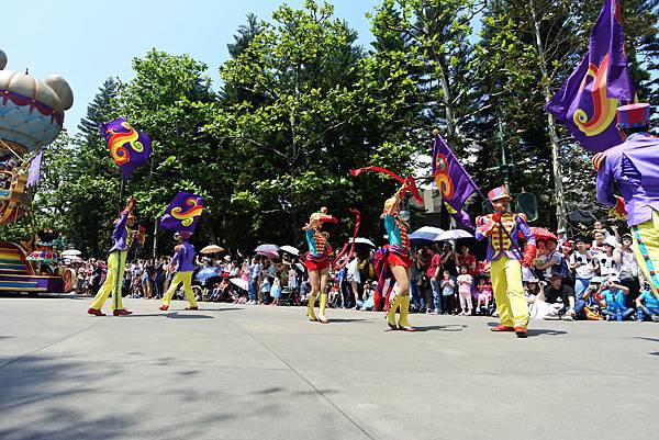
[[(606, 319), (659, 321), (659, 302), (643, 279), (632, 236), (618, 235), (595, 222), (579, 237), (558, 230), (540, 238), (523, 281), (534, 319)], [(421, 244), (413, 249), (411, 268), (412, 313), (431, 315), (496, 316), (489, 263), (471, 253), (470, 241)], [(331, 307), (381, 311), (375, 303), (376, 274), (372, 249), (358, 249), (339, 269), (331, 271)], [(171, 273), (169, 258), (137, 260), (126, 266), (123, 293), (131, 297), (160, 298)], [(311, 286), (298, 257), (198, 256), (194, 292), (199, 300), (249, 305), (305, 305)], [(93, 295), (103, 283), (105, 262), (91, 259), (77, 264), (76, 291)], [(203, 275), (203, 277), (202, 277)], [(395, 286), (394, 286), (395, 289)], [(183, 298), (182, 292), (179, 292)]]

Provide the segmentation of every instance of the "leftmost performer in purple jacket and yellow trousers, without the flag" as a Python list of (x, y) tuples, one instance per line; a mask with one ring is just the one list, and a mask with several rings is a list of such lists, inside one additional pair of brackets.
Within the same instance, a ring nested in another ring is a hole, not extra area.
[(133, 214), (135, 202), (135, 198), (131, 196), (126, 207), (114, 222), (114, 232), (112, 233), (112, 240), (114, 244), (110, 249), (110, 256), (108, 257), (108, 275), (105, 282), (101, 285), (99, 293), (97, 293), (91, 307), (87, 311), (90, 315), (105, 316), (105, 314), (101, 312), (101, 308), (110, 293), (112, 293), (112, 314), (114, 316), (132, 314), (132, 312), (123, 308), (121, 287), (123, 284), (124, 268), (129, 249), (135, 239), (139, 241), (144, 240), (142, 233), (130, 229), (130, 227), (135, 224), (135, 215)]

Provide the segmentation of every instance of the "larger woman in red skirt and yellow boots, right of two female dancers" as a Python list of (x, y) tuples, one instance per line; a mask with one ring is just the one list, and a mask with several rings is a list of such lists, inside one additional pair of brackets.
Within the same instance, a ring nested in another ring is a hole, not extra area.
[[(409, 225), (399, 218), (401, 201), (404, 199), (410, 183), (405, 181), (395, 194), (384, 202), (384, 208), (380, 218), (384, 222), (384, 228), (389, 237), (389, 245), (383, 246), (373, 256), (373, 268), (378, 277), (378, 296), (390, 297), (386, 294), (396, 283), (396, 294), (389, 303), (387, 312), (387, 324), (392, 330), (415, 331), (407, 320), (410, 311), (410, 274), (412, 262), (410, 260), (410, 238), (407, 237)], [(389, 282), (389, 286), (387, 283)], [(395, 312), (400, 308), (400, 317), (396, 324)]]

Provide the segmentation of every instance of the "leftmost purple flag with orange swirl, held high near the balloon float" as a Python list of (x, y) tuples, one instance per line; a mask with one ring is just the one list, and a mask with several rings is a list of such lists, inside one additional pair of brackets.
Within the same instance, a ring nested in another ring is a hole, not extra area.
[(137, 167), (146, 163), (152, 154), (149, 137), (133, 128), (123, 117), (103, 124), (101, 133), (125, 180)]

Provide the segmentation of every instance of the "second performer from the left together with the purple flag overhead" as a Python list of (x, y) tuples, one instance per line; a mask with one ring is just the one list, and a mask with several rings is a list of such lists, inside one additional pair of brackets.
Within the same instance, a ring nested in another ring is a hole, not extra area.
[(163, 297), (160, 311), (167, 311), (171, 297), (176, 293), (180, 283), (183, 283), (183, 292), (188, 298), (189, 306), (187, 311), (197, 311), (197, 298), (192, 292), (192, 272), (194, 272), (194, 246), (189, 241), (194, 233), (199, 218), (204, 207), (204, 199), (200, 195), (181, 191), (172, 199), (165, 214), (160, 218), (160, 227), (164, 229), (176, 230), (175, 237), (178, 245), (174, 248), (175, 253), (168, 266), (171, 272), (176, 268), (176, 274), (169, 284), (169, 289)]

